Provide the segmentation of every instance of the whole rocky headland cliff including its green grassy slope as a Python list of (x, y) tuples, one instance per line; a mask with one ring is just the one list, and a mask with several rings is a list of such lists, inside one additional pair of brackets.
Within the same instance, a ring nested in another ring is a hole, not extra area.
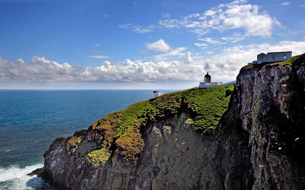
[(245, 66), (233, 92), (161, 96), (55, 139), (40, 176), (59, 189), (305, 189), (304, 87), (305, 55)]

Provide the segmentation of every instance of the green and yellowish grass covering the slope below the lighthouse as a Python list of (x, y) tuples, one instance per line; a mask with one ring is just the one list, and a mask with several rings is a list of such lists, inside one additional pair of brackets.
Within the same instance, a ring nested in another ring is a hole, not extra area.
[(209, 133), (227, 110), (231, 94), (228, 92), (232, 92), (233, 88), (233, 85), (192, 88), (164, 94), (110, 113), (93, 125), (93, 130), (103, 135), (104, 140), (100, 142), (101, 149), (87, 155), (87, 161), (95, 166), (105, 164), (113, 143), (118, 154), (125, 160), (133, 161), (144, 146), (140, 130), (145, 129), (148, 122), (164, 121), (181, 112), (190, 114), (186, 123), (193, 125), (194, 130), (201, 134)]

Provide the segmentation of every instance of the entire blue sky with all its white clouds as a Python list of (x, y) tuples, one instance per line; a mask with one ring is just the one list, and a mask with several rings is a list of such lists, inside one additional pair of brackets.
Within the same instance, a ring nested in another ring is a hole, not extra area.
[(188, 89), (305, 53), (305, 0), (0, 0), (0, 89)]

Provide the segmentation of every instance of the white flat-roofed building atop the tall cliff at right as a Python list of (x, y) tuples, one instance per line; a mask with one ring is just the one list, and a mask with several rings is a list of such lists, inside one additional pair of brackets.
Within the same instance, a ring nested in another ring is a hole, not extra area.
[(248, 65), (261, 64), (263, 62), (285, 61), (292, 57), (292, 52), (269, 52), (267, 54), (260, 53), (257, 55), (257, 61), (248, 63)]

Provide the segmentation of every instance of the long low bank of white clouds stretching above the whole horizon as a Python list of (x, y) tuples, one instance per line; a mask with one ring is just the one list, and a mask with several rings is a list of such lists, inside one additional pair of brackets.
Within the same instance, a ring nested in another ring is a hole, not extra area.
[[(224, 48), (218, 55), (193, 55), (185, 48), (169, 51), (180, 60), (124, 63), (104, 61), (98, 67), (82, 67), (69, 63), (57, 63), (34, 56), (29, 63), (22, 59), (7, 61), (0, 58), (0, 86), (11, 83), (149, 83), (200, 81), (208, 71), (217, 81), (229, 82), (236, 78), (240, 68), (264, 52), (292, 51), (304, 53), (305, 42), (283, 41), (277, 44), (251, 44)], [(168, 53), (169, 53), (168, 52)], [(164, 54), (167, 55), (168, 53)], [(161, 54), (161, 58), (162, 58)]]

